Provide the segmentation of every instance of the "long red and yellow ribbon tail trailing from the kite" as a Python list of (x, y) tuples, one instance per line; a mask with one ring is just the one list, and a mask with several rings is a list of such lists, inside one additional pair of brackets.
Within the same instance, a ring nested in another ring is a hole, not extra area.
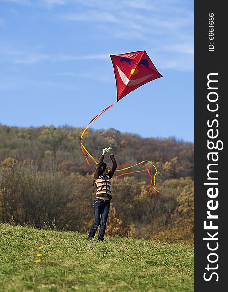
[[(117, 101), (116, 101), (117, 102)], [(112, 105), (108, 106), (107, 108), (105, 108), (104, 110), (101, 111), (101, 113), (99, 113), (98, 115), (96, 115), (88, 124), (88, 126), (86, 128), (84, 128), (84, 130), (82, 131), (81, 133), (81, 138), (80, 138), (80, 144), (81, 144), (81, 150), (82, 150), (82, 153), (84, 154), (85, 156), (85, 159), (86, 159), (86, 162), (89, 166), (89, 168), (91, 169), (92, 172), (93, 169), (92, 169), (92, 166), (91, 164), (89, 163), (89, 160), (88, 160), (88, 157), (90, 157), (95, 164), (98, 164), (98, 162), (95, 160), (95, 158), (89, 153), (89, 151), (85, 148), (85, 146), (83, 145), (83, 138), (84, 138), (84, 135), (86, 134), (86, 132), (88, 131), (89, 127), (91, 126), (91, 124), (93, 122), (95, 122), (103, 113), (105, 113), (106, 110), (109, 110), (112, 106), (114, 106), (114, 104), (116, 104), (116, 102), (114, 102)], [(88, 156), (88, 157), (87, 157)], [(127, 174), (132, 174), (132, 173), (138, 173), (138, 172), (142, 172), (142, 171), (147, 171), (149, 176), (150, 176), (150, 188), (149, 188), (149, 193), (151, 194), (151, 189), (152, 189), (152, 185), (153, 185), (153, 189), (155, 190), (155, 192), (157, 193), (157, 195), (159, 197), (161, 197), (161, 195), (159, 194), (159, 191), (156, 189), (155, 185), (155, 178), (156, 178), (156, 175), (158, 173), (158, 170), (157, 168), (155, 167), (155, 165), (152, 163), (152, 161), (148, 161), (148, 160), (143, 160), (139, 163), (134, 163), (134, 164), (124, 164), (124, 165), (120, 165), (117, 167), (116, 171), (124, 171), (124, 170), (127, 170), (127, 169), (130, 169), (134, 166), (137, 166), (137, 165), (144, 165), (144, 163), (147, 162), (147, 163), (150, 163), (152, 164), (152, 166), (154, 167), (155, 169), (155, 174), (154, 174), (154, 177), (152, 177), (152, 171), (149, 167), (146, 166), (146, 169), (143, 169), (143, 170), (137, 170), (137, 171), (132, 171), (132, 172), (125, 172), (125, 173), (122, 173), (122, 174), (119, 174), (117, 176), (114, 176), (113, 178), (117, 178), (117, 177), (120, 177), (120, 176), (123, 176), (123, 175), (127, 175)], [(127, 167), (125, 167), (127, 166)], [(124, 168), (121, 168), (121, 169), (118, 169), (120, 167), (124, 167)]]

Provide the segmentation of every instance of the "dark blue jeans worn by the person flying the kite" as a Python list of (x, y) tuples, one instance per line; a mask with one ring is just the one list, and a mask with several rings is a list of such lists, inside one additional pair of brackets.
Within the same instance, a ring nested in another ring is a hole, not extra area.
[(98, 240), (103, 241), (104, 240), (104, 234), (106, 229), (106, 222), (109, 215), (109, 206), (110, 201), (109, 200), (103, 200), (95, 198), (93, 202), (94, 207), (94, 224), (92, 225), (88, 239), (92, 239), (95, 236), (95, 233), (100, 225), (100, 230), (98, 234)]

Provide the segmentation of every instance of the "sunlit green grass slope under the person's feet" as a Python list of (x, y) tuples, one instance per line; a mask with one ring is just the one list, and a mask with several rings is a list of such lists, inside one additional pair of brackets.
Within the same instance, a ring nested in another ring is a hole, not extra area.
[(0, 292), (194, 291), (193, 246), (86, 237), (0, 223)]

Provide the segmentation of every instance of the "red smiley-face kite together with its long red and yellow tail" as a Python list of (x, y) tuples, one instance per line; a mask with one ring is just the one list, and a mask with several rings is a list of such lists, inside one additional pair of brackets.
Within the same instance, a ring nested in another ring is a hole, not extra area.
[[(89, 165), (92, 172), (93, 172), (93, 168), (89, 162), (89, 159), (91, 159), (95, 164), (97, 164), (98, 162), (93, 158), (93, 156), (89, 153), (89, 151), (83, 145), (84, 135), (88, 131), (91, 124), (95, 122), (103, 113), (105, 113), (106, 110), (109, 110), (112, 106), (114, 106), (114, 104), (116, 104), (120, 99), (122, 99), (125, 95), (129, 94), (131, 91), (146, 84), (149, 81), (162, 77), (162, 75), (158, 72), (158, 70), (155, 68), (154, 64), (150, 60), (146, 51), (137, 51), (137, 52), (120, 54), (120, 55), (110, 55), (110, 57), (113, 63), (115, 80), (116, 80), (117, 101), (111, 104), (110, 106), (108, 106), (107, 108), (105, 108), (104, 110), (102, 110), (101, 113), (96, 115), (89, 122), (88, 126), (81, 133), (81, 139), (80, 139), (81, 150), (83, 154), (85, 155), (87, 164)], [(116, 171), (124, 171), (132, 167), (135, 167), (137, 165), (144, 165), (144, 163), (150, 163), (154, 167), (155, 169), (154, 176), (152, 176), (151, 169), (146, 166), (146, 169), (132, 171), (132, 172), (125, 172), (117, 176), (114, 176), (113, 178), (127, 175), (127, 174), (147, 171), (150, 176), (149, 193), (151, 193), (151, 189), (153, 186), (153, 189), (156, 191), (158, 196), (161, 197), (161, 195), (159, 194), (159, 191), (156, 189), (156, 182), (155, 182), (158, 170), (156, 169), (152, 161), (143, 160), (135, 164), (120, 165), (117, 167)]]

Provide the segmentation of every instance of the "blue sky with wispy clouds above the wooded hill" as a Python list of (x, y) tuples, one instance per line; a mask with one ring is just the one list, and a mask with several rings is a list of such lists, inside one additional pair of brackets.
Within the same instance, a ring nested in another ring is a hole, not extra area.
[(0, 123), (86, 127), (116, 101), (109, 55), (139, 50), (163, 77), (93, 128), (193, 142), (193, 0), (0, 0)]

